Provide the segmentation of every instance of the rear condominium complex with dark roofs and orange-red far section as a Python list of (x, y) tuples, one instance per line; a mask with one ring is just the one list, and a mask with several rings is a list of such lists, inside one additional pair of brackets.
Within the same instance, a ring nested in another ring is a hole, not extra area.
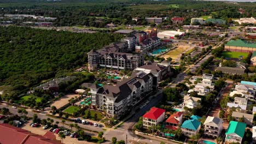
[[(114, 68), (133, 70), (144, 64), (144, 53), (160, 44), (157, 29), (130, 34), (118, 43), (110, 44), (100, 50), (88, 52), (88, 68)], [(131, 53), (135, 50), (137, 53)]]

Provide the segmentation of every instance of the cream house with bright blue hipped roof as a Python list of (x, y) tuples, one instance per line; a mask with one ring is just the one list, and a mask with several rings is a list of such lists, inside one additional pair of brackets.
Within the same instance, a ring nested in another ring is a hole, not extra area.
[(181, 129), (185, 136), (193, 136), (199, 133), (201, 123), (196, 119), (189, 119), (183, 122)]

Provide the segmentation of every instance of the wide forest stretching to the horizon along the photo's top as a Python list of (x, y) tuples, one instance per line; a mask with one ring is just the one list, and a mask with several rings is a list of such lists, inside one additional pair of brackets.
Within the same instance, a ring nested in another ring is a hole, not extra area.
[[(88, 0), (57, 2), (46, 1), (1, 1), (0, 14), (35, 14), (57, 17), (56, 26), (94, 26), (104, 27), (114, 22), (119, 25), (144, 25), (144, 17), (182, 16), (189, 22), (191, 17), (211, 15), (213, 18), (256, 17), (256, 3), (227, 3), (191, 0), (139, 1), (139, 0)], [(245, 13), (238, 13), (238, 9)], [(132, 21), (132, 17), (140, 17)], [(168, 20), (167, 20), (168, 21)]]

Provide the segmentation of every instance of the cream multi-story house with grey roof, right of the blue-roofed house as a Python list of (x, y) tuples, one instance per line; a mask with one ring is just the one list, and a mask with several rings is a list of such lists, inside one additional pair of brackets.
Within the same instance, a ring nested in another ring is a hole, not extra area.
[(208, 137), (216, 139), (220, 133), (222, 133), (222, 124), (222, 118), (208, 116), (205, 120), (205, 123), (203, 123), (203, 125), (205, 125), (204, 134)]

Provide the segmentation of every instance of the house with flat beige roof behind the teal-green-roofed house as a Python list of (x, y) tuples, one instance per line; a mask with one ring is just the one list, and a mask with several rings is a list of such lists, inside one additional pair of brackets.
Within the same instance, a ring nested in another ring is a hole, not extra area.
[(246, 124), (252, 125), (254, 116), (248, 113), (233, 111), (232, 117), (234, 117), (236, 121), (240, 121), (242, 119), (242, 121), (244, 121)]

